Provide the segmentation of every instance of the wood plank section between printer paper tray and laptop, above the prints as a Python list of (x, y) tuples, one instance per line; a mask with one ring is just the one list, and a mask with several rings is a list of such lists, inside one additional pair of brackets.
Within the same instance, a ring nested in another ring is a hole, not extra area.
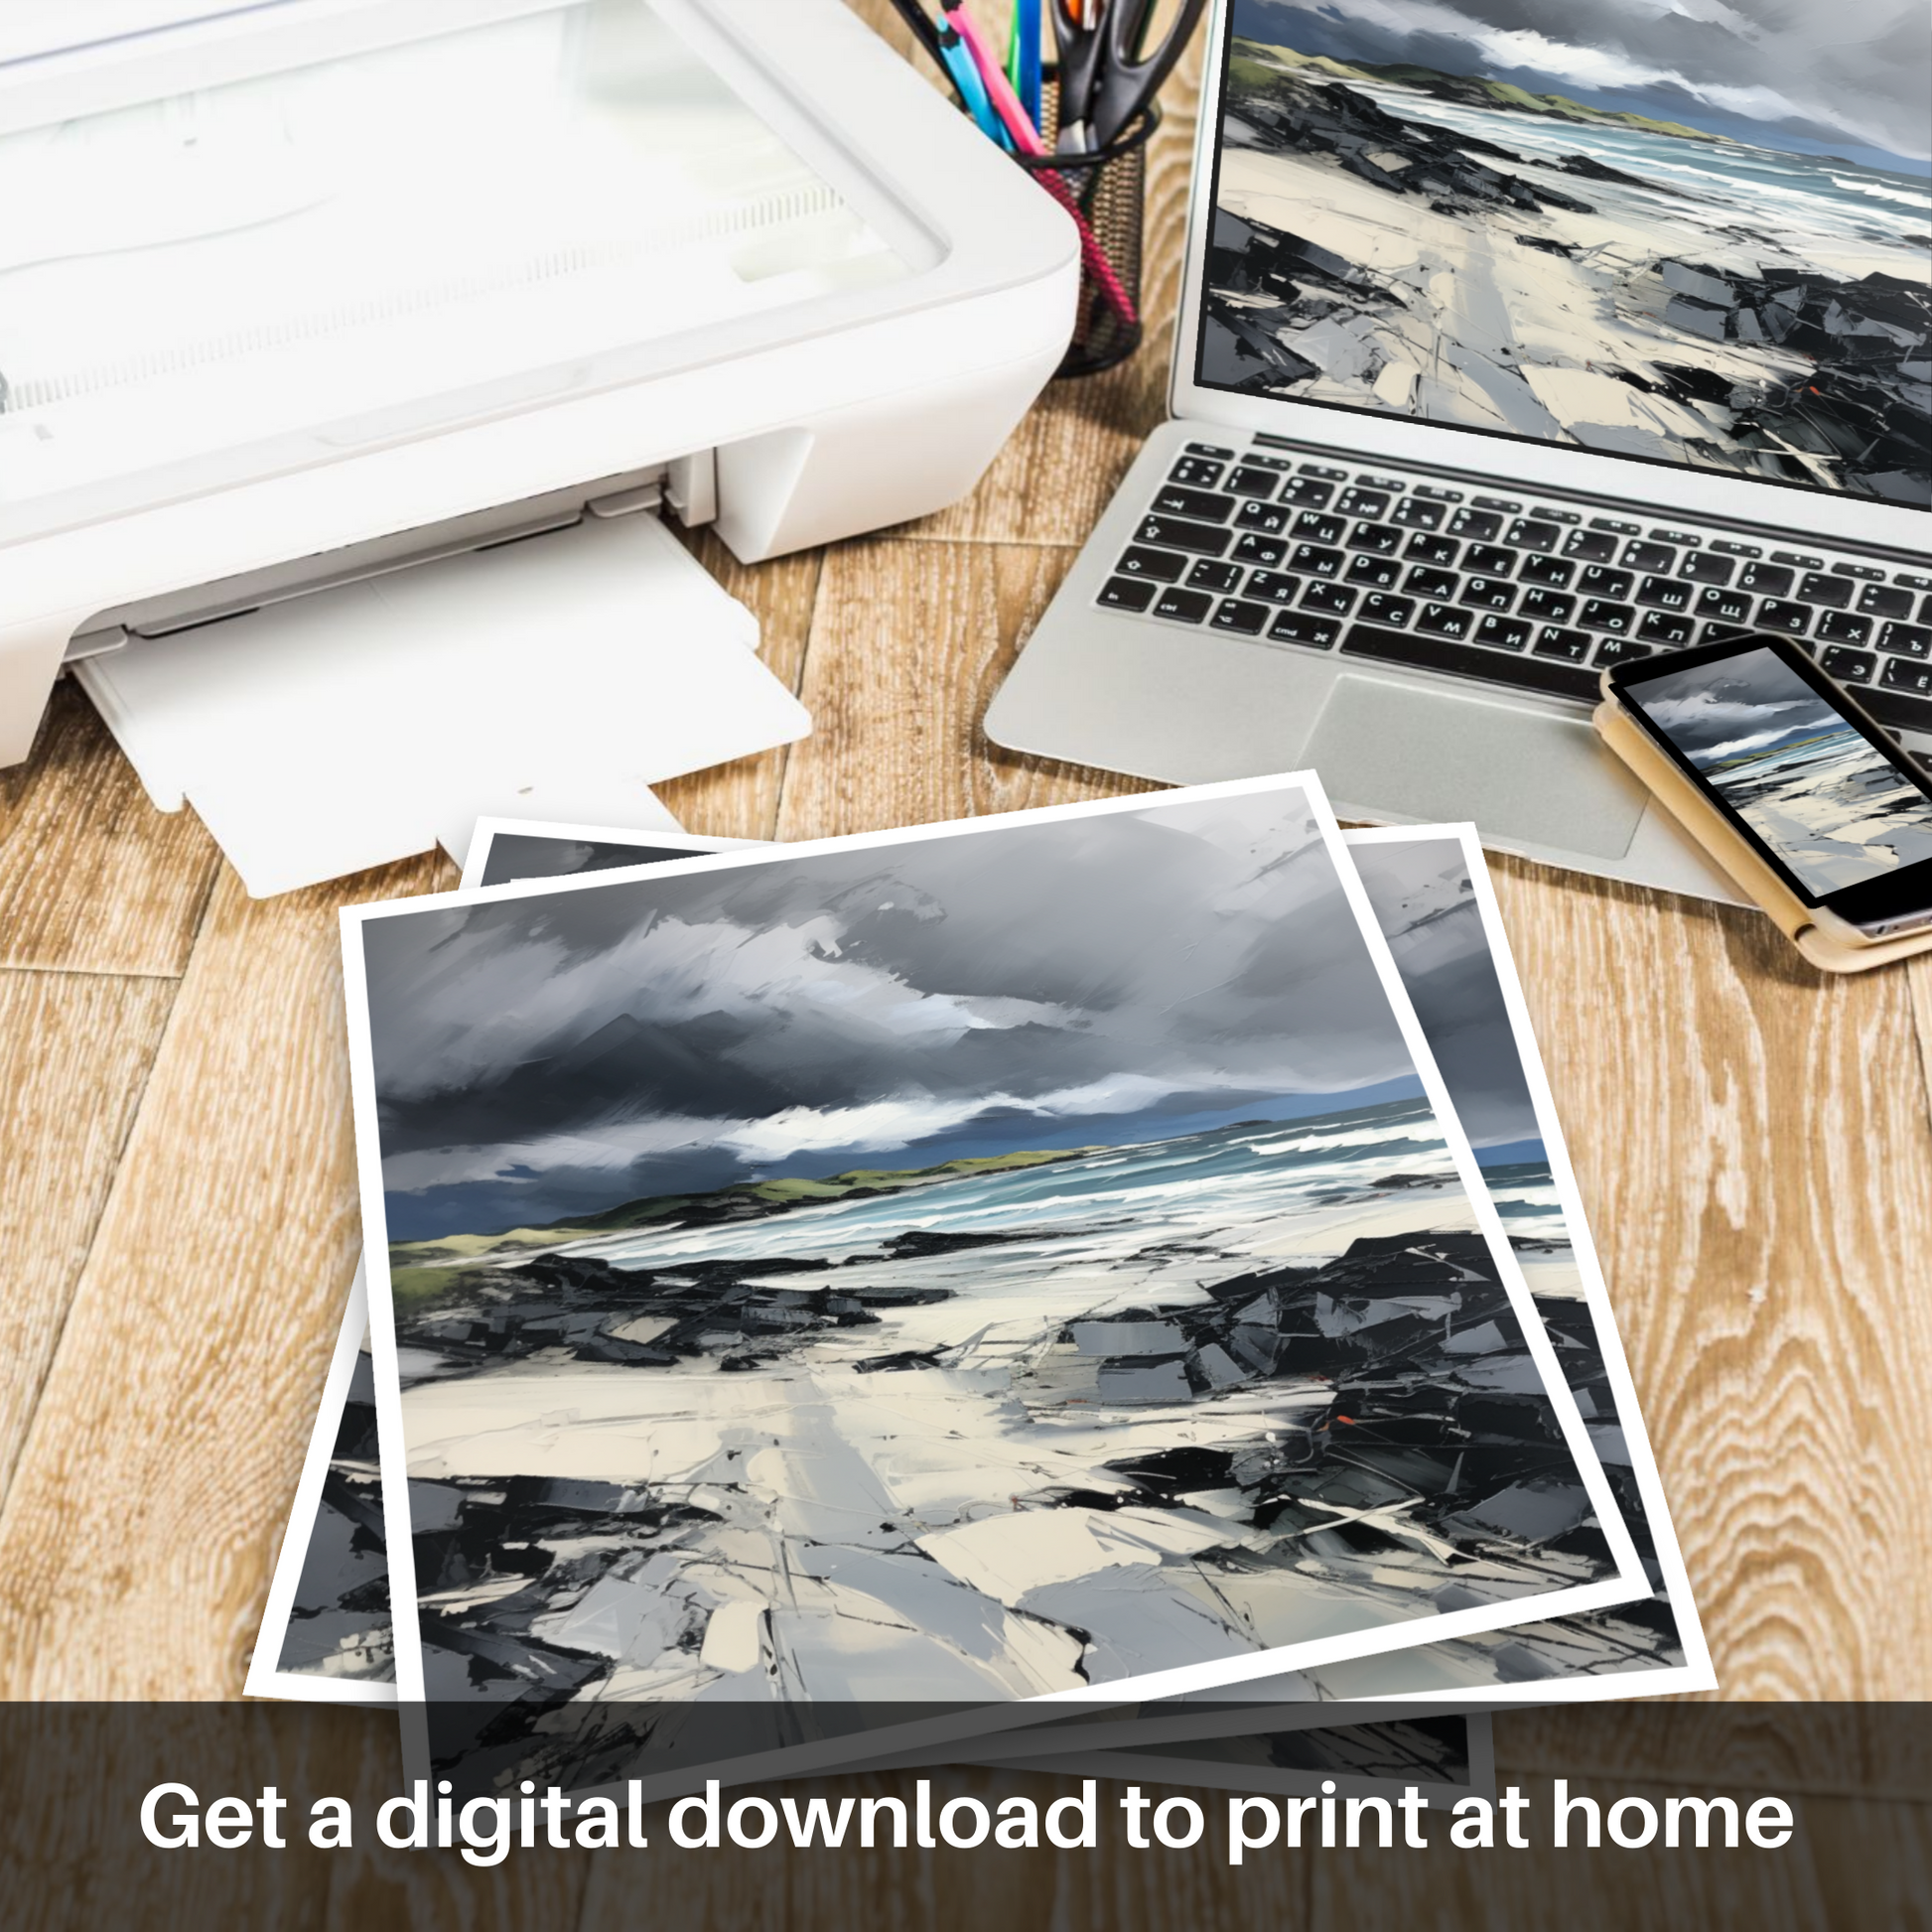
[(781, 838), (1111, 798), (1117, 773), (995, 752), (980, 730), (1020, 638), (1070, 553), (1036, 545), (871, 539), (827, 551)]

